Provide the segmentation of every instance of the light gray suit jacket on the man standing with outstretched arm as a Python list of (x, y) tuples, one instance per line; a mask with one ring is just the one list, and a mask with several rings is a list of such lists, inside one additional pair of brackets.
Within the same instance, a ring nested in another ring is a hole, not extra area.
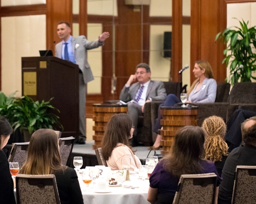
[[(88, 83), (94, 80), (93, 73), (91, 67), (88, 63), (87, 50), (97, 48), (99, 46), (104, 45), (104, 42), (89, 41), (86, 36), (81, 35), (78, 37), (71, 36), (71, 42), (73, 47), (73, 52), (76, 60), (76, 64), (78, 64), (80, 70), (83, 74), (84, 83)], [(62, 50), (62, 41), (56, 44), (55, 46), (55, 56), (61, 59), (61, 50)]]

